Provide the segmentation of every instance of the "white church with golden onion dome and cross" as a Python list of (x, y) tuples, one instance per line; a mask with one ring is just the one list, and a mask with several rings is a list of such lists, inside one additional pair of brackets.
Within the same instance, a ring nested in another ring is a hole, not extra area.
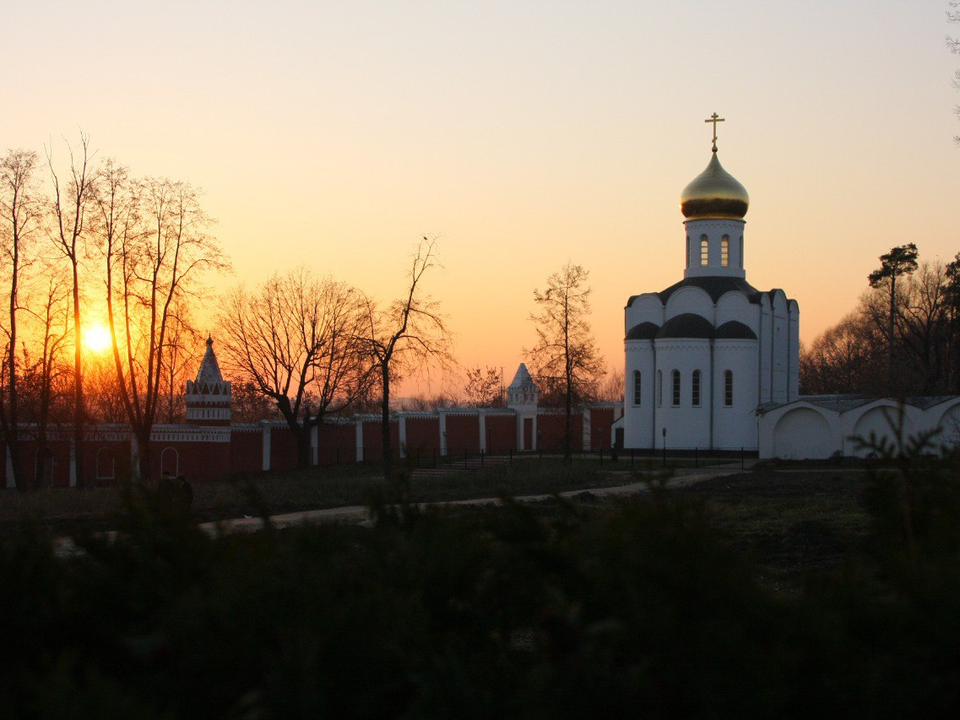
[(747, 282), (750, 197), (720, 164), (723, 119), (706, 122), (710, 161), (680, 196), (683, 279), (624, 309), (627, 449), (757, 451), (758, 408), (798, 398), (800, 308)]

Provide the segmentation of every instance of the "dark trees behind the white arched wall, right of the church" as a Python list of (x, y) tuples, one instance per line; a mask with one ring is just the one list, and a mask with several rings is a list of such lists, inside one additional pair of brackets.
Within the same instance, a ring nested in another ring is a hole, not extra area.
[(800, 358), (803, 394), (960, 392), (960, 253), (921, 261), (916, 244), (880, 256), (857, 307)]

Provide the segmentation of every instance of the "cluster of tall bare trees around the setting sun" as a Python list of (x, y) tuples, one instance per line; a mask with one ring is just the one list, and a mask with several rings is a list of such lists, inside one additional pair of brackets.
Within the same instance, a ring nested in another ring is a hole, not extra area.
[[(95, 155), (81, 135), (63, 162), (52, 148), (0, 158), (0, 431), (21, 490), (42, 474), (39, 462), (25, 472), (22, 441), (43, 450), (62, 423), (72, 425), (78, 483), (92, 422), (128, 423), (140, 471), (149, 468), (153, 424), (165, 405), (172, 413), (194, 359), (198, 280), (228, 267), (194, 187), (133, 177)], [(84, 332), (97, 312), (110, 352), (93, 363)]]

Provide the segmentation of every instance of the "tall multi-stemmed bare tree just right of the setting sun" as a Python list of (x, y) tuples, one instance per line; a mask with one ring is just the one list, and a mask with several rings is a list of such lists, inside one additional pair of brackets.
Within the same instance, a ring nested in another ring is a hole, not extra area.
[(108, 165), (97, 195), (97, 231), (105, 264), (107, 318), (117, 387), (150, 478), (150, 435), (162, 401), (170, 337), (181, 301), (195, 297), (199, 276), (226, 270), (207, 230), (212, 221), (196, 190), (182, 182), (132, 182)]

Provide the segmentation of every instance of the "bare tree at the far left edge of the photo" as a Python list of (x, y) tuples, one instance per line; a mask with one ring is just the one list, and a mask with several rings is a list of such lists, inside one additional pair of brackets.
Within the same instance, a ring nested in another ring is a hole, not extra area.
[(10, 150), (0, 161), (0, 243), (5, 259), (7, 312), (2, 329), (5, 335), (3, 363), (0, 366), (0, 430), (13, 467), (17, 489), (29, 489), (20, 457), (19, 367), (17, 359), (18, 321), (21, 283), (27, 265), (27, 245), (40, 220), (34, 186), (36, 153)]

